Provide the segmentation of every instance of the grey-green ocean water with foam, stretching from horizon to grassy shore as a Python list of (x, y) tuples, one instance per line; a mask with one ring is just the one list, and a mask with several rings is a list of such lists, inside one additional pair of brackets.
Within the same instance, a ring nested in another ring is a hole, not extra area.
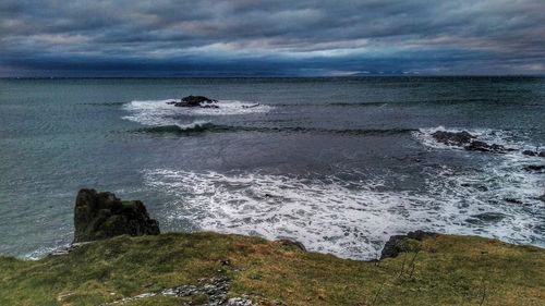
[[(187, 95), (219, 109), (167, 101)], [(142, 199), (164, 232), (291, 237), (372, 259), (428, 230), (545, 246), (545, 78), (0, 79), (0, 255), (69, 244), (82, 187)]]

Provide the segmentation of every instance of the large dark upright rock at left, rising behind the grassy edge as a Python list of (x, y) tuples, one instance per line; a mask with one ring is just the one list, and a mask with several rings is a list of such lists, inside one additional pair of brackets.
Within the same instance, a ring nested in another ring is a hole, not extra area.
[(118, 235), (157, 235), (159, 223), (140, 200), (121, 201), (112, 193), (81, 189), (74, 208), (74, 243)]

